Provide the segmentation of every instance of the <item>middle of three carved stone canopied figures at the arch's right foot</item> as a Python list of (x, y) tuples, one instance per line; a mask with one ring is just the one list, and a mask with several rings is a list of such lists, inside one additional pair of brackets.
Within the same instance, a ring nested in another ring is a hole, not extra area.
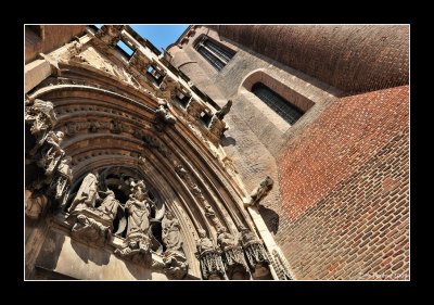
[(244, 252), (238, 238), (229, 233), (226, 228), (221, 228), (217, 241), (222, 250), (221, 258), (228, 278), (231, 280), (247, 280), (250, 278), (248, 266), (244, 259)]

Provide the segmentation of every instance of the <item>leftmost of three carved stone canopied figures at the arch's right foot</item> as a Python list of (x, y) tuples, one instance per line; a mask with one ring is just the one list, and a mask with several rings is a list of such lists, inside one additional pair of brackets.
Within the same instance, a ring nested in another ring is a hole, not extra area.
[(205, 280), (221, 280), (225, 278), (225, 266), (221, 252), (213, 241), (206, 237), (203, 229), (199, 230), (197, 254), (201, 263), (202, 277)]

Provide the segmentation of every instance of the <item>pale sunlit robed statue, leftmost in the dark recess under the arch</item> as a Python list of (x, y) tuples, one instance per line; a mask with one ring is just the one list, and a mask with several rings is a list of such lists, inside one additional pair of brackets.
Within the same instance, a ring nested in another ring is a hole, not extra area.
[(79, 211), (86, 207), (94, 207), (98, 198), (98, 173), (89, 173), (81, 182), (80, 188), (68, 212)]

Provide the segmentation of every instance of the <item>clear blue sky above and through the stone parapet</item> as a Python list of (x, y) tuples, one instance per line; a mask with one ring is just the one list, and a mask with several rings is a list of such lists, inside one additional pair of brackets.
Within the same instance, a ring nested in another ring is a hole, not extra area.
[[(100, 24), (95, 26), (101, 27)], [(166, 49), (167, 46), (175, 42), (178, 37), (189, 26), (188, 24), (157, 24), (157, 25), (130, 25), (141, 37), (146, 38), (159, 51), (162, 48)], [(120, 46), (123, 47), (123, 46)], [(123, 48), (124, 49), (124, 48)]]

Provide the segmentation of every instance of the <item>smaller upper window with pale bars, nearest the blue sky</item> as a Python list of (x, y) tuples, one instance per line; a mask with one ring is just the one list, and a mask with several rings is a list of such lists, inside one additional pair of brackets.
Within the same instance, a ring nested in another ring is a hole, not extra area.
[(222, 69), (234, 52), (204, 36), (196, 45), (196, 51), (217, 71)]

